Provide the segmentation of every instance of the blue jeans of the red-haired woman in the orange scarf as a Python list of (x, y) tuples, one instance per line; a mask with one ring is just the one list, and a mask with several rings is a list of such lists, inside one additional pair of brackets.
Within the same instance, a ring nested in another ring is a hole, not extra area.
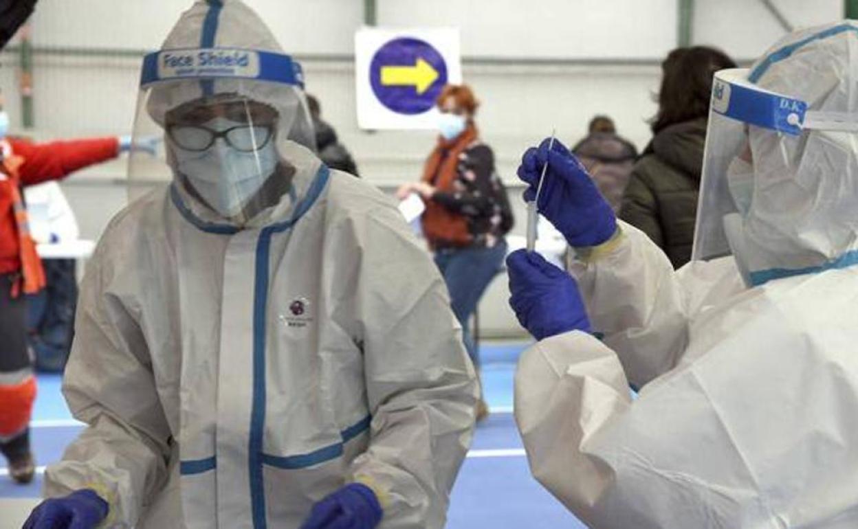
[(435, 264), (444, 276), (450, 291), (450, 304), (456, 319), (462, 324), (462, 340), (474, 366), (480, 366), (479, 352), (474, 345), (468, 320), (480, 303), (483, 292), (498, 274), (506, 256), (506, 241), (501, 239), (492, 248), (440, 249)]

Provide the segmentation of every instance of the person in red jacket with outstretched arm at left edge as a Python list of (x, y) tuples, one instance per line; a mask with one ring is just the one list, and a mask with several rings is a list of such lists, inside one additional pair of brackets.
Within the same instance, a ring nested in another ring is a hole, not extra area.
[(29, 421), (36, 381), (27, 352), (23, 294), (45, 286), (45, 274), (29, 234), (21, 188), (116, 158), (130, 145), (115, 137), (36, 144), (7, 138), (8, 125), (0, 95), (0, 452), (9, 460), (9, 476), (26, 484), (35, 470)]

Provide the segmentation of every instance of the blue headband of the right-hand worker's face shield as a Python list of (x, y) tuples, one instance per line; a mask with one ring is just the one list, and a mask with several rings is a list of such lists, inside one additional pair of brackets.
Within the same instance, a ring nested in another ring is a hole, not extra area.
[(712, 110), (743, 123), (801, 135), (807, 103), (740, 82), (730, 82), (716, 75), (712, 87)]

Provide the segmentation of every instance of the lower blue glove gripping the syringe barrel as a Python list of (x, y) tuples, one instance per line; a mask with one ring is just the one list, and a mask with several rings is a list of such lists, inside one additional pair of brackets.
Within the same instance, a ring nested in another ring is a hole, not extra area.
[(506, 258), (510, 306), (536, 340), (579, 330), (590, 332), (581, 293), (571, 275), (542, 255), (519, 249)]

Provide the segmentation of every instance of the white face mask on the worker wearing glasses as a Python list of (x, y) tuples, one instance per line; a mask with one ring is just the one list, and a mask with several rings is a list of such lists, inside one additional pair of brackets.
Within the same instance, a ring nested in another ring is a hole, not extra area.
[[(218, 117), (206, 126), (222, 131), (239, 124)], [(177, 170), (188, 178), (208, 206), (226, 218), (242, 212), (274, 173), (279, 159), (274, 139), (250, 153), (229, 146), (223, 138), (202, 152), (186, 151), (175, 145), (172, 150)]]

